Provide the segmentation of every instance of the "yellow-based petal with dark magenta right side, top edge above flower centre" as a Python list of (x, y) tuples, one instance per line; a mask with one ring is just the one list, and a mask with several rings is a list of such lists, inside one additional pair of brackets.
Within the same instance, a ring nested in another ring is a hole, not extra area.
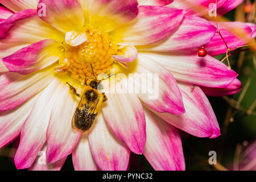
[(94, 0), (90, 23), (109, 32), (128, 23), (138, 15), (137, 0)]

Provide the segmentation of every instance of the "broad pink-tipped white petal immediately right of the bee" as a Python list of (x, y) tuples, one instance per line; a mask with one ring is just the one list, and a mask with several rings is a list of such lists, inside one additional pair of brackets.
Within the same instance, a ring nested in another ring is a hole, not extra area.
[[(116, 85), (120, 86), (119, 83)], [(106, 92), (105, 92), (106, 93)], [(108, 103), (102, 113), (109, 129), (135, 154), (142, 154), (146, 142), (146, 123), (136, 94), (106, 93)], [(119, 110), (120, 112), (115, 112)]]

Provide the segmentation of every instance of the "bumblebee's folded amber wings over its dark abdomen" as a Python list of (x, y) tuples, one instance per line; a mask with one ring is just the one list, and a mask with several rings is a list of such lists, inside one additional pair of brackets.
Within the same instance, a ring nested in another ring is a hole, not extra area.
[(97, 116), (96, 108), (100, 99), (97, 98), (95, 102), (90, 104), (86, 103), (85, 96), (82, 96), (79, 106), (75, 111), (75, 114), (72, 118), (72, 127), (73, 129), (86, 131), (89, 130), (92, 126), (94, 119)]

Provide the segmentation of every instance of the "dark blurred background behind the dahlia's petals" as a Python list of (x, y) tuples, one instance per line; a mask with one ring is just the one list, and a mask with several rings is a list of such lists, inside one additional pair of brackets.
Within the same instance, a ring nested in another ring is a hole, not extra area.
[[(248, 19), (248, 15), (244, 13), (243, 9), (244, 6), (241, 5), (236, 10), (230, 11), (225, 16), (232, 21), (243, 21), (246, 19), (246, 16)], [(216, 58), (221, 60), (222, 57), (224, 56), (222, 55)], [(238, 65), (238, 60), (243, 61), (241, 67)], [(243, 86), (249, 84), (250, 82), (245, 96), (240, 104), (243, 109), (247, 110), (256, 100), (256, 64), (254, 64), (256, 62), (255, 53), (253, 51), (246, 51), (245, 53), (232, 55), (230, 57), (230, 62), (232, 64), (232, 69), (239, 73), (238, 78), (242, 82)], [(240, 98), (241, 93), (242, 91), (229, 97), (237, 101)], [(240, 151), (240, 148), (246, 146), (247, 143), (254, 142), (256, 139), (255, 115), (248, 115), (245, 113), (245, 111), (234, 109), (224, 100), (224, 98), (221, 97), (209, 97), (209, 101), (212, 104), (213, 110), (217, 116), (222, 135), (216, 139), (207, 139), (196, 138), (181, 132), (187, 170), (233, 169), (234, 160), (237, 160), (235, 154)], [(230, 117), (230, 113), (232, 117)], [(3, 150), (0, 150), (0, 170), (16, 169), (13, 159), (9, 157), (11, 156), (9, 151), (13, 145), (14, 144), (12, 143)], [(217, 152), (217, 166), (209, 165), (209, 151)], [(132, 154), (130, 169), (152, 170), (152, 167), (150, 164), (148, 164), (147, 160), (143, 156)], [(71, 156), (68, 157), (62, 170), (73, 170)]]

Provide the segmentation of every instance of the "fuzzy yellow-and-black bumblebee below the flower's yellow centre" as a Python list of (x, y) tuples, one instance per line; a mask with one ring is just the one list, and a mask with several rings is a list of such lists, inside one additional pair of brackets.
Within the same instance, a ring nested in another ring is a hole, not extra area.
[(81, 131), (82, 133), (88, 131), (90, 127), (92, 127), (102, 103), (108, 100), (105, 93), (100, 93), (98, 91), (102, 89), (102, 80), (97, 80), (94, 72), (93, 76), (95, 79), (90, 81), (89, 84), (85, 79), (85, 88), (83, 89), (84, 92), (82, 94), (77, 93), (76, 89), (67, 82), (69, 89), (72, 90), (73, 94), (81, 97), (79, 105), (77, 106), (72, 118), (72, 128)]

